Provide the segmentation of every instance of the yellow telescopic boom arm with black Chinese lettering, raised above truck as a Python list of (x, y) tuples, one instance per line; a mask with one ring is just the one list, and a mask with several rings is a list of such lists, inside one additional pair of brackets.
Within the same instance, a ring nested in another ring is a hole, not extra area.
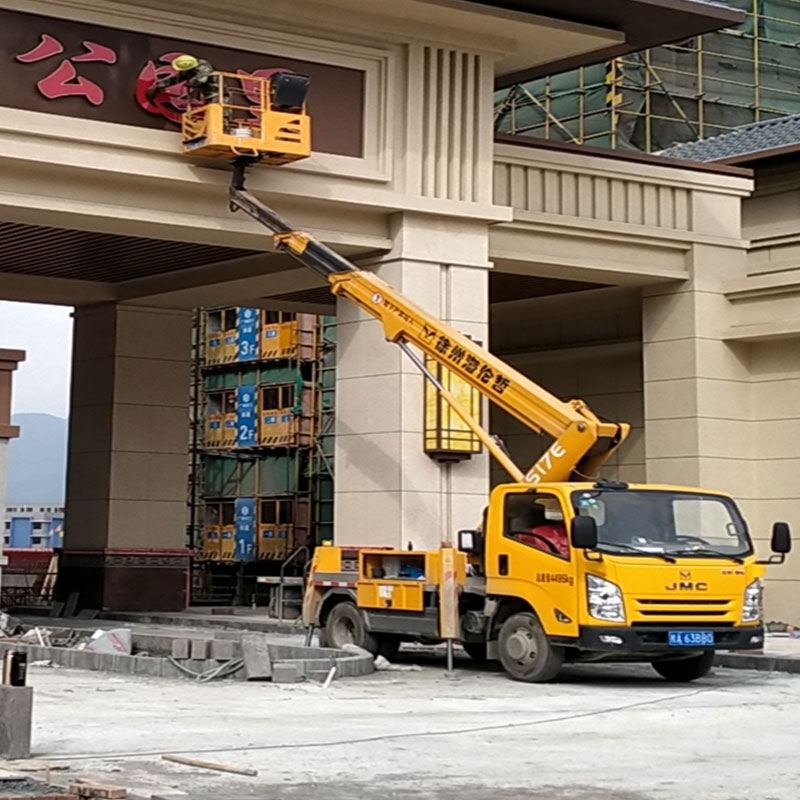
[(581, 400), (559, 400), (468, 337), (414, 305), (373, 273), (358, 269), (309, 234), (292, 228), (245, 190), (244, 173), (248, 162), (248, 159), (234, 162), (230, 188), (232, 210), (241, 209), (272, 231), (276, 249), (290, 253), (324, 277), (335, 295), (347, 297), (379, 319), (386, 338), (403, 347), (412, 358), (415, 354), (408, 345), (435, 359), (532, 430), (547, 433), (556, 440), (528, 472), (523, 473), (497, 441), (427, 372), (424, 364), (414, 358), (453, 410), (515, 481), (535, 484), (596, 476), (600, 465), (628, 435), (629, 425), (602, 422)]

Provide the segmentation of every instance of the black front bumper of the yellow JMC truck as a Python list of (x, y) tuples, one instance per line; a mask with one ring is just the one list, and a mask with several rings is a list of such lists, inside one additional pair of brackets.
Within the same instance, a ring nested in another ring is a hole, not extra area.
[[(699, 628), (699, 626), (698, 626)], [(622, 653), (674, 653), (690, 652), (690, 647), (670, 647), (667, 634), (671, 630), (686, 630), (679, 622), (674, 625), (633, 625), (631, 627), (606, 627), (581, 625), (578, 647), (581, 650)], [(764, 628), (725, 627), (703, 625), (702, 630), (714, 632), (713, 650), (760, 650), (764, 647)]]

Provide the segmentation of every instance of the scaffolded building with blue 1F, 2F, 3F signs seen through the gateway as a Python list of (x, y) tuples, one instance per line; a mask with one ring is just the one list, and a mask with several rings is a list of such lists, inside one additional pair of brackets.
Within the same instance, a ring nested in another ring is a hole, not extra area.
[(335, 325), (228, 307), (194, 331), (192, 602), (268, 602), (332, 538)]

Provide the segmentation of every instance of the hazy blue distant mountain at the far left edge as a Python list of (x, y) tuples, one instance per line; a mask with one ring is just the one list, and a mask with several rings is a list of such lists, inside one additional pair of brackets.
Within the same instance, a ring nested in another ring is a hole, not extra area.
[(67, 473), (67, 420), (52, 414), (16, 414), (18, 439), (8, 453), (9, 505), (57, 503), (63, 505)]

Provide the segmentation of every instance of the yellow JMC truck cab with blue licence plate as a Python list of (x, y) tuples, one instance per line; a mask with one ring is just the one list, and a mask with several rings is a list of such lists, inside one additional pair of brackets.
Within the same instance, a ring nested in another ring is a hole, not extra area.
[[(763, 646), (764, 566), (728, 495), (603, 481), (505, 484), (492, 492), (485, 527), (485, 536), (460, 539), (473, 545), (471, 567), (485, 580), (488, 651), (512, 677), (552, 677), (564, 660), (627, 660), (691, 679), (714, 650)], [(788, 547), (779, 525), (773, 548)], [(507, 624), (526, 614), (535, 619)], [(542, 650), (553, 651), (549, 665)]]

